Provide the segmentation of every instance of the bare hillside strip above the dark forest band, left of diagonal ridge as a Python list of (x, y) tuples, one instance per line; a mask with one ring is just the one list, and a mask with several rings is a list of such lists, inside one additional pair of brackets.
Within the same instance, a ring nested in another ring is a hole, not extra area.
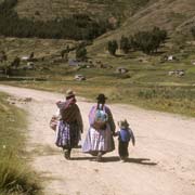
[(95, 18), (121, 20), (132, 15), (150, 0), (18, 0), (16, 11), (21, 17), (53, 20), (73, 14), (88, 14)]

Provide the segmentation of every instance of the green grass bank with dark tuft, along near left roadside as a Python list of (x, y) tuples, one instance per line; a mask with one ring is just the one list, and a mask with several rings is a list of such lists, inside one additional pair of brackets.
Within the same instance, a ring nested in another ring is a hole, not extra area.
[(36, 195), (37, 176), (27, 166), (24, 112), (0, 93), (0, 194)]

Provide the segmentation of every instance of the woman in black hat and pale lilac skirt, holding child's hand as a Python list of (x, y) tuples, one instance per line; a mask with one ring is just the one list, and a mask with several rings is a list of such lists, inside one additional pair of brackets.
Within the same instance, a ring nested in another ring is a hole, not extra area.
[[(115, 134), (115, 122), (110, 109), (105, 105), (106, 96), (99, 94), (98, 104), (92, 106), (89, 114), (90, 129), (82, 146), (84, 153), (96, 156), (102, 160), (102, 155), (115, 150), (113, 134)], [(106, 116), (107, 115), (107, 116)], [(102, 123), (100, 125), (100, 118)]]

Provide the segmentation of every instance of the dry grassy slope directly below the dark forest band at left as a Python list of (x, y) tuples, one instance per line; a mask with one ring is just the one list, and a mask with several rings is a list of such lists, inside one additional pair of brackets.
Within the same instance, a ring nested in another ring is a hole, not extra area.
[(61, 51), (66, 49), (66, 46), (75, 47), (74, 40), (62, 39), (17, 39), (17, 38), (1, 38), (0, 50), (6, 52), (9, 60), (15, 56), (29, 56), (31, 52), (35, 57), (51, 57), (52, 55), (60, 55)]

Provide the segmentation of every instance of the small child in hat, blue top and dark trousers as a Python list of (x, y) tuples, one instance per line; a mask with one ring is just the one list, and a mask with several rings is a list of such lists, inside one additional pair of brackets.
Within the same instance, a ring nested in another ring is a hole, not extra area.
[(135, 139), (132, 130), (129, 128), (128, 121), (125, 119), (123, 121), (118, 122), (119, 131), (116, 132), (116, 135), (118, 135), (118, 153), (120, 156), (120, 159), (122, 161), (126, 161), (127, 157), (129, 156), (128, 153), (128, 146), (129, 142), (132, 139), (133, 146), (135, 145)]

